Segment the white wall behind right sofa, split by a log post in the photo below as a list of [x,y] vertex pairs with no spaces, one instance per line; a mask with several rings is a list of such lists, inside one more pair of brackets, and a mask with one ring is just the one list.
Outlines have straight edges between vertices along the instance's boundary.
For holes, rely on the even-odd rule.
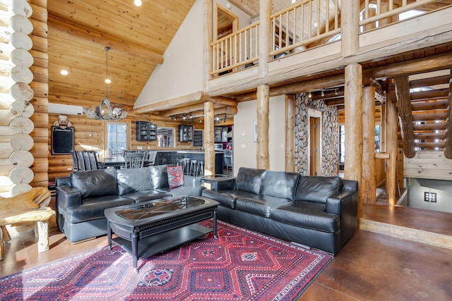
[[[256,100],[239,104],[234,116],[234,174],[239,167],[256,168],[254,120],[257,118]],[[271,171],[285,170],[285,96],[270,97],[270,127],[268,129],[268,156]]]

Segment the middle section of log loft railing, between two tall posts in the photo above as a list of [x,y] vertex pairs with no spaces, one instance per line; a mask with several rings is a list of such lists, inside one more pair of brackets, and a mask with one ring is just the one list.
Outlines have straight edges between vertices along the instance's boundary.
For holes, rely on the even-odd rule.
[[339,0],[304,0],[270,16],[270,56],[340,33]]

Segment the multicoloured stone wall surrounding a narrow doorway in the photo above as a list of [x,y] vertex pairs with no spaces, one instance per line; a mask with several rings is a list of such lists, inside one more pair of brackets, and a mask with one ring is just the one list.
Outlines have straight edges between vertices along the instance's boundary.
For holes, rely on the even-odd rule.
[[321,100],[301,94],[295,101],[295,172],[309,175],[309,116],[308,110],[321,111],[321,175],[338,176],[338,110]]

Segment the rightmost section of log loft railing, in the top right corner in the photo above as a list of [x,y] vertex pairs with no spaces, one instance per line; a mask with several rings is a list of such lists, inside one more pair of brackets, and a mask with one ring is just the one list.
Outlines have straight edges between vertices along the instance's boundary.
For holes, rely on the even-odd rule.
[[[400,13],[405,13],[406,11],[411,11],[413,9],[421,8],[424,6],[422,11],[432,11],[432,8],[427,7],[429,4],[434,4],[439,2],[438,0],[402,0],[402,1],[381,1],[377,0],[376,4],[371,0],[364,0],[364,11],[362,20],[359,21],[359,26],[369,25],[374,23],[370,28],[378,27],[376,21],[381,21],[386,18],[391,18],[398,16]],[[450,4],[436,4],[436,9],[441,9]],[[395,20],[397,21],[397,20]],[[380,24],[381,25],[381,24]],[[366,27],[364,27],[364,31]]]

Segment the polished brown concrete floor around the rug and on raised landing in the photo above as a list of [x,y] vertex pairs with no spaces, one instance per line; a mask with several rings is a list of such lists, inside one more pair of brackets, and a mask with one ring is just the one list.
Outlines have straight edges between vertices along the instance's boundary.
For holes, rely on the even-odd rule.
[[[450,234],[452,214],[438,216],[366,205],[363,219]],[[105,236],[72,245],[56,228],[49,240],[43,253],[32,233],[6,243],[0,276],[107,245]],[[359,229],[299,300],[452,300],[452,250]]]

